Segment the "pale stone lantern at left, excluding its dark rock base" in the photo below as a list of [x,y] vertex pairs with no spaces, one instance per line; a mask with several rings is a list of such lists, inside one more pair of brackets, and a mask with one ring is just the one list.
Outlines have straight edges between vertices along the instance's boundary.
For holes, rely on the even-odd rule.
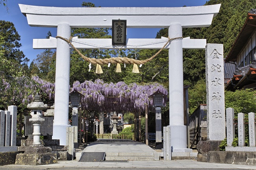
[[30,115],[32,116],[31,119],[29,119],[30,122],[33,124],[33,145],[38,145],[40,143],[40,125],[45,121],[44,118],[42,118],[43,115],[43,109],[47,108],[47,104],[44,104],[41,102],[40,96],[38,93],[35,95],[34,101],[28,104],[28,109],[32,110],[30,112]]

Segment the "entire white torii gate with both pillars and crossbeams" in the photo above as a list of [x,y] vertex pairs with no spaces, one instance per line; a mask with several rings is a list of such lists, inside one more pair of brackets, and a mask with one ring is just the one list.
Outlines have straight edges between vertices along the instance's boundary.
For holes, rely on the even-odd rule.
[[[28,24],[35,27],[57,27],[57,36],[69,38],[74,27],[112,26],[112,19],[127,20],[127,28],[169,28],[169,38],[182,37],[182,28],[208,27],[219,12],[221,4],[197,7],[43,7],[19,4]],[[72,38],[78,49],[160,49],[167,38],[127,40],[126,46],[112,46],[111,39]],[[90,44],[94,44],[91,46]],[[141,46],[141,44],[145,44]],[[148,45],[147,45],[148,44]],[[171,146],[173,152],[189,152],[187,127],[184,125],[183,58],[182,49],[205,49],[205,39],[176,39],[165,48],[169,49],[169,103]],[[66,127],[69,110],[70,46],[61,39],[34,39],[34,49],[56,48],[56,82],[53,139],[66,145]],[[170,69],[175,68],[175,69]]]

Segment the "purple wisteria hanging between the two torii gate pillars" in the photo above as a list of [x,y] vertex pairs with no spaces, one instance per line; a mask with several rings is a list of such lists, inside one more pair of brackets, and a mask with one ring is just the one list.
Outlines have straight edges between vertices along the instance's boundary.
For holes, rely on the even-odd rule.
[[[168,94],[167,89],[158,83],[127,85],[124,82],[104,83],[103,80],[97,79],[95,82],[86,80],[80,83],[76,81],[70,91],[77,90],[85,96],[81,100],[81,106],[86,110],[132,112],[139,108],[144,110],[145,104],[152,106],[153,101],[148,97],[158,89],[162,93]],[[166,101],[167,99],[164,99],[164,103]]]

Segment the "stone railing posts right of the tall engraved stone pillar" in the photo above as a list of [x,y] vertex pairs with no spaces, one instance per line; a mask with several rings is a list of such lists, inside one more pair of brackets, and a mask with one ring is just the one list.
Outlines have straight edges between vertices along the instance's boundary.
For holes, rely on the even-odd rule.
[[[234,121],[237,121],[235,123]],[[245,122],[246,121],[246,122]],[[235,138],[235,124],[238,131],[238,146],[233,147],[232,142]],[[249,128],[249,146],[245,146],[245,124]],[[226,109],[226,130],[227,130],[227,145],[226,151],[256,151],[256,129],[255,129],[255,113],[248,113],[248,121],[245,119],[244,113],[238,113],[237,119],[234,119],[234,109]]]

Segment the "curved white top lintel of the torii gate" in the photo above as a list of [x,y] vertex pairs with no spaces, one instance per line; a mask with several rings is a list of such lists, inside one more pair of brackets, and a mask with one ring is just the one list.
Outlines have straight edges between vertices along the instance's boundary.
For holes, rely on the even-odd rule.
[[[127,20],[127,27],[161,28],[171,23],[182,27],[208,27],[221,4],[195,7],[45,7],[19,4],[30,26],[111,27],[112,19]],[[90,22],[88,22],[90,20]]]

